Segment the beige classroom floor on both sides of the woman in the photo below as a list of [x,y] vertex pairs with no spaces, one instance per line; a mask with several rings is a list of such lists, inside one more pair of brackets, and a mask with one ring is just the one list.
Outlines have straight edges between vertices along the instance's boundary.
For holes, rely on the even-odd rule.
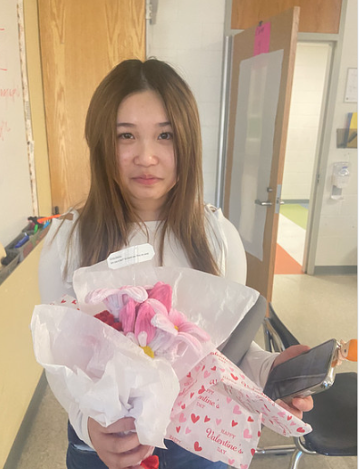
[[[278,316],[300,342],[317,345],[327,338],[350,339],[357,334],[356,276],[313,277],[277,275],[273,305]],[[261,330],[256,337],[263,346]],[[355,363],[340,371],[356,371]],[[14,469],[65,469],[67,416],[47,389],[34,425],[24,446],[20,463]],[[284,445],[292,441],[262,431],[260,445]],[[290,455],[256,456],[249,469],[288,469]],[[356,469],[356,457],[304,455],[298,469]],[[13,469],[13,468],[12,468]],[[92,468],[89,468],[92,469]]]

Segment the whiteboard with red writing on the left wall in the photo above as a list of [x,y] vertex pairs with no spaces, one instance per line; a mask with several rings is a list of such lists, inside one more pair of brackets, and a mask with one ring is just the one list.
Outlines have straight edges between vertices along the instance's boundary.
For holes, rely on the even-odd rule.
[[15,0],[0,1],[0,242],[5,246],[34,215],[17,7]]

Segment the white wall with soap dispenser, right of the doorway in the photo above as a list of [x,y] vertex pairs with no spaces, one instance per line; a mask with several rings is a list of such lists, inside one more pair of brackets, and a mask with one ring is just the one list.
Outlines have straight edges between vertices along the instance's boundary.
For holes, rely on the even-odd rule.
[[[347,69],[357,67],[357,0],[348,0],[346,29],[337,86],[337,103],[327,161],[322,210],[317,239],[316,266],[356,266],[357,264],[357,150],[337,149],[337,129],[345,128],[347,112],[356,112],[356,103],[345,103]],[[344,200],[331,200],[331,175],[337,161],[351,163],[351,181],[343,190]]]

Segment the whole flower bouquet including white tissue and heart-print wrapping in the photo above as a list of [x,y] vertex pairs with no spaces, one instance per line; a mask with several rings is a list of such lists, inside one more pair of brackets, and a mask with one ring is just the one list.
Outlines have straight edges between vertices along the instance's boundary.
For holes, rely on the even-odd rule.
[[143,445],[169,438],[242,469],[261,425],[311,430],[217,350],[259,298],[252,288],[194,269],[105,261],[78,269],[73,286],[76,298],[35,307],[31,325],[35,357],[68,412],[76,403],[105,426],[132,416]]

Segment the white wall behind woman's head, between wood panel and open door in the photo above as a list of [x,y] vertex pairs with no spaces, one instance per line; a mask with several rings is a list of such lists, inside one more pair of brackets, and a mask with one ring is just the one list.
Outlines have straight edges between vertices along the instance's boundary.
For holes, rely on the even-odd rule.
[[200,111],[204,200],[215,201],[225,0],[159,0],[149,26],[148,57],[171,64],[190,85]]

